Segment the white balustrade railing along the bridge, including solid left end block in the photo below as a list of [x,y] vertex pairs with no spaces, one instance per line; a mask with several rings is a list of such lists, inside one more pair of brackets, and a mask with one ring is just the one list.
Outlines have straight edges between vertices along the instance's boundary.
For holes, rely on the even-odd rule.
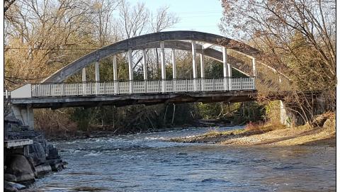
[[11,98],[254,90],[254,77],[26,84]]

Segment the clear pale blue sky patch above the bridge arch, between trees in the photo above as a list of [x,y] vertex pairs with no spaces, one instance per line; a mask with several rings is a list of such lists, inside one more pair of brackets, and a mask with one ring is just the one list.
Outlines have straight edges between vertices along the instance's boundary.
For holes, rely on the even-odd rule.
[[131,4],[144,2],[150,11],[156,12],[160,6],[169,6],[169,11],[180,18],[168,30],[198,30],[221,35],[218,28],[222,18],[220,0],[130,0]]

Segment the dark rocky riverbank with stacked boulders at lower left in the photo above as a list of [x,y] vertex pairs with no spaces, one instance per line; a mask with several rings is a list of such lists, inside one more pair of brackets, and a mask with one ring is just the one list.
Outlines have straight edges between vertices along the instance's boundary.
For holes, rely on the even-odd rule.
[[5,141],[29,139],[33,140],[33,144],[5,148],[4,191],[39,191],[26,190],[24,184],[67,166],[58,150],[47,142],[43,132],[28,130],[13,118],[6,118],[5,125]]

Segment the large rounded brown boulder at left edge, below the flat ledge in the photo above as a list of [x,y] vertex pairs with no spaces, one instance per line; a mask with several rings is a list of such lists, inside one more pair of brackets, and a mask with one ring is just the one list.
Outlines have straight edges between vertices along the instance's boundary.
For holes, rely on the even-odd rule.
[[22,154],[11,154],[6,157],[6,174],[13,174],[16,176],[16,181],[32,181],[35,174],[33,167],[28,162],[28,159]]

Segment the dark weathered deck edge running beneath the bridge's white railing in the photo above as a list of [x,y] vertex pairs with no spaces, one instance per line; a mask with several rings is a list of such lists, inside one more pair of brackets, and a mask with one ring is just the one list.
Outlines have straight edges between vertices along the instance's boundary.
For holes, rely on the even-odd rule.
[[241,102],[253,101],[257,92],[246,91],[208,91],[180,92],[164,94],[124,94],[124,95],[89,95],[89,96],[45,96],[32,98],[12,98],[16,106],[30,108],[66,108],[93,106],[128,106],[135,104],[152,105],[157,103],[191,103],[191,102]]

